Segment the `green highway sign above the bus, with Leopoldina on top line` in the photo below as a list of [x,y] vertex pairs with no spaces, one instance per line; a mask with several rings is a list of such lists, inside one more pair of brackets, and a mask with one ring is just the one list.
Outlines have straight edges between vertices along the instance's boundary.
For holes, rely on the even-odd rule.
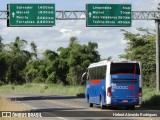
[[130,27],[131,4],[87,4],[87,27]]

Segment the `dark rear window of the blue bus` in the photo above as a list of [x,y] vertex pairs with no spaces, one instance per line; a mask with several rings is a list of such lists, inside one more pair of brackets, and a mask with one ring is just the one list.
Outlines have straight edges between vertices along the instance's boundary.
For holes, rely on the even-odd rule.
[[110,74],[139,74],[138,63],[111,63]]

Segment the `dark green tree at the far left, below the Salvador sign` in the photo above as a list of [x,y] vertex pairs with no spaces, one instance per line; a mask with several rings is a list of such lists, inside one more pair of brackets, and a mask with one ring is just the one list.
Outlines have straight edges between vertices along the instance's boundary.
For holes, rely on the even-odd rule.
[[[30,53],[24,50],[27,42],[19,37],[16,37],[14,42],[5,45],[2,55],[2,62],[5,65],[0,69],[4,71],[3,83],[25,83],[24,68],[27,61],[31,59]],[[3,66],[4,66],[3,65]]]

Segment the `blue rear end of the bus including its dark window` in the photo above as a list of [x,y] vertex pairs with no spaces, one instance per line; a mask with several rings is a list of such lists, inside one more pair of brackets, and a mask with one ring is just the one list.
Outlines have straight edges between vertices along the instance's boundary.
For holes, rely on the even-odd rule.
[[138,104],[140,68],[138,63],[111,63],[111,104]]

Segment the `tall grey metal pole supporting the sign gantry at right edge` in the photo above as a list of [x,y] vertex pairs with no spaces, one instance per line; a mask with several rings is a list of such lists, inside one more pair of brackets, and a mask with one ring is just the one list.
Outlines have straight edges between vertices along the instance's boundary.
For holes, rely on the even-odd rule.
[[156,88],[160,91],[160,20],[156,20],[156,31]]

